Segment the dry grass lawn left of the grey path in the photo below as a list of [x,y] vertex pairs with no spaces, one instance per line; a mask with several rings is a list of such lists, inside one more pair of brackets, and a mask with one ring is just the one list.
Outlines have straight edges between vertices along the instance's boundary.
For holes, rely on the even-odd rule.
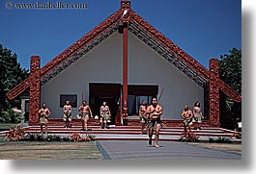
[[1,160],[102,160],[95,141],[7,141],[0,137]]

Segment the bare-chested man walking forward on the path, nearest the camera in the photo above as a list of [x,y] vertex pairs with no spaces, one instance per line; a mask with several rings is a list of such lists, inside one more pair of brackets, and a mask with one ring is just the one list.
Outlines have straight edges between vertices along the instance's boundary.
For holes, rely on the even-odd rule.
[[161,128],[161,119],[160,116],[162,115],[162,107],[158,104],[157,99],[152,99],[152,105],[147,108],[147,114],[149,114],[149,121],[148,121],[148,135],[150,137],[149,144],[152,145],[152,137],[154,133],[154,129],[156,129],[156,136],[155,136],[155,147],[158,148],[158,139],[159,139],[159,131]]

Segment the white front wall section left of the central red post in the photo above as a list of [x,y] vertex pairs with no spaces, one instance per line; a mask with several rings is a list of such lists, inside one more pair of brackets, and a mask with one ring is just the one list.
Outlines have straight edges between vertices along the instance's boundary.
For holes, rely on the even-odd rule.
[[[79,106],[82,93],[89,103],[89,83],[122,82],[122,40],[122,35],[113,34],[43,85],[41,101],[46,102],[51,117],[63,117],[60,94],[77,94]],[[77,110],[73,109],[73,117]]]

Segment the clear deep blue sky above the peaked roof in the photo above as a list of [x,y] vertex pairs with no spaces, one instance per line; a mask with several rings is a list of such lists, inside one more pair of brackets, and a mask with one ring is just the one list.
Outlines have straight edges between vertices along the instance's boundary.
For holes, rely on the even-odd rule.
[[[15,7],[47,2],[60,1],[0,0],[0,44],[16,53],[27,69],[31,56],[40,56],[43,66],[121,6],[120,0],[62,0],[86,8]],[[131,9],[208,69],[210,59],[234,47],[242,49],[241,0],[131,0]]]

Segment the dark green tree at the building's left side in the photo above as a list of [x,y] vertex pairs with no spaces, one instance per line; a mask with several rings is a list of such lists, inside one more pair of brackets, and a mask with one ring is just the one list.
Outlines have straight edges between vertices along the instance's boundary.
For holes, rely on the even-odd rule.
[[0,112],[20,107],[19,101],[10,102],[5,94],[28,76],[29,70],[20,66],[16,54],[12,54],[10,49],[3,48],[0,44]]

